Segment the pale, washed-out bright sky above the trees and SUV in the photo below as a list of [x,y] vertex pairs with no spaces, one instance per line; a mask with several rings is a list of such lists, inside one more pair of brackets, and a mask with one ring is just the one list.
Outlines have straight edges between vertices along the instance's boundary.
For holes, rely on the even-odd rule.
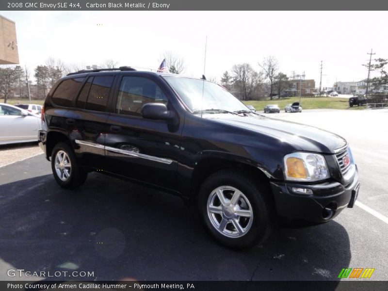
[[[319,87],[367,77],[368,52],[388,58],[388,12],[352,11],[0,11],[16,22],[19,62],[30,70],[49,57],[64,63],[158,68],[165,51],[201,77],[220,81],[234,64],[260,70],[274,56],[280,70],[305,72]],[[31,74],[33,75],[33,73]]]

